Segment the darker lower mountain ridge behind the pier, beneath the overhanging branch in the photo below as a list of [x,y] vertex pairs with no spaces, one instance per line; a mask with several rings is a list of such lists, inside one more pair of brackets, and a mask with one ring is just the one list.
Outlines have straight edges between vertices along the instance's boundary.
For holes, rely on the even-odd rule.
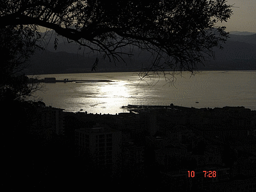
[[[31,56],[29,62],[31,66],[24,72],[25,74],[88,73],[92,72],[93,63],[95,63],[96,58],[96,55],[87,56],[85,54],[83,56],[63,51],[40,51]],[[107,58],[103,60],[99,56],[96,72],[138,71],[141,68],[140,62],[141,60],[133,61],[131,58],[127,58],[127,63],[114,63],[109,62]]]

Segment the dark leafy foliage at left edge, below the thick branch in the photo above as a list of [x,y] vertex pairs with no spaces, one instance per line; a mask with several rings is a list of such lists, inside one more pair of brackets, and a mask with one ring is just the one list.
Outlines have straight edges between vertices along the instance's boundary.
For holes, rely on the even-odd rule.
[[4,26],[0,34],[0,101],[10,104],[40,88],[37,83],[29,83],[28,77],[22,74],[28,67],[29,56],[40,48],[36,45],[40,35],[28,26]]

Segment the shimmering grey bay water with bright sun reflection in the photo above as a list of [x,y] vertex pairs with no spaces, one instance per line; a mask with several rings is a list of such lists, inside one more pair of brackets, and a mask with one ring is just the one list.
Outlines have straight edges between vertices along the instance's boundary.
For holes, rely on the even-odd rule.
[[111,80],[100,83],[44,83],[46,91],[36,92],[47,106],[64,111],[116,114],[127,112],[127,104],[223,108],[244,106],[256,110],[256,71],[201,71],[196,74],[163,74],[141,81],[136,72],[47,74],[58,80]]

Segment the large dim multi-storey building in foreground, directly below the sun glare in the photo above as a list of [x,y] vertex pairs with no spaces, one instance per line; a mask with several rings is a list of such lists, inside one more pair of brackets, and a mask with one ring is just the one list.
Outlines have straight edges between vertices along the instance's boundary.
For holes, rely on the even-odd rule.
[[88,166],[118,175],[121,166],[122,134],[107,125],[77,129],[76,144]]

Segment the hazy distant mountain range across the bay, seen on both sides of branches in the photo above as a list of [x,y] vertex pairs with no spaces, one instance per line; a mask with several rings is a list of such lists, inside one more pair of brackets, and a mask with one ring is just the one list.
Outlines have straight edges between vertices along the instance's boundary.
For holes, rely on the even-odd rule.
[[[256,70],[256,34],[229,36],[223,44],[223,50],[214,48],[215,60],[205,61],[205,66],[198,66],[198,70]],[[46,51],[36,52],[31,57],[31,67],[26,70],[26,74],[92,72],[97,57],[99,64],[96,72],[140,71],[142,66],[145,68],[152,63],[151,54],[147,51],[134,49],[134,56],[124,56],[127,63],[116,62],[115,65],[109,63],[108,58],[102,60],[100,54],[93,54],[87,47],[79,49],[79,45],[68,44],[62,38],[55,50],[53,41],[49,41]]]

